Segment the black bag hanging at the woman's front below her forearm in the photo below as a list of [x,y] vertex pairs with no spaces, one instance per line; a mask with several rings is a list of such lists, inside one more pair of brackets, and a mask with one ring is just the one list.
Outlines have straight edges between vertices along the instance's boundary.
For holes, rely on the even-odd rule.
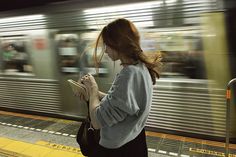
[[100,132],[92,127],[90,118],[84,120],[78,130],[76,141],[84,156],[89,156],[99,144]]

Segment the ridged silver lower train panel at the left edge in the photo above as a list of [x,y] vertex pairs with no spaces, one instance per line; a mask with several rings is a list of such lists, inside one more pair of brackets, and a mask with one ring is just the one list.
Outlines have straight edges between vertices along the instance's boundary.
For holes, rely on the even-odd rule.
[[62,114],[59,83],[46,79],[0,78],[1,107]]

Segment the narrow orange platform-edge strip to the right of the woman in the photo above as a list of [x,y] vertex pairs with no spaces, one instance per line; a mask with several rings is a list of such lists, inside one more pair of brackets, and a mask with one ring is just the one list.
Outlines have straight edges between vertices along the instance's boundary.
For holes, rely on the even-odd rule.
[[[205,145],[210,145],[210,146],[225,147],[225,143],[223,142],[215,142],[215,141],[202,140],[202,139],[183,137],[183,136],[177,136],[177,135],[170,135],[170,134],[164,134],[164,133],[146,131],[146,135],[153,136],[153,137],[160,137],[160,138],[168,138],[168,139],[173,139],[173,140],[178,140],[178,141],[205,144]],[[236,144],[230,144],[229,148],[236,149]]]

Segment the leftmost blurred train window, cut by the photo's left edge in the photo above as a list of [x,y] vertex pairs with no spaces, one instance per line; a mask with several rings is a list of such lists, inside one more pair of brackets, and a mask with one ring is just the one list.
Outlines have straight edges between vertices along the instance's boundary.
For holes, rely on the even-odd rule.
[[1,71],[3,74],[32,74],[24,37],[4,37],[1,40]]

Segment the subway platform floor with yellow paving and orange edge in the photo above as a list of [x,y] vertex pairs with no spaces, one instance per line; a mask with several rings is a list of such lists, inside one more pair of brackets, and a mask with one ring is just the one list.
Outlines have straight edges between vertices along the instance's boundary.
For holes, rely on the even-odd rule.
[[[80,122],[0,111],[0,157],[83,157]],[[224,143],[146,131],[149,157],[224,156]],[[236,145],[230,145],[236,157]]]

